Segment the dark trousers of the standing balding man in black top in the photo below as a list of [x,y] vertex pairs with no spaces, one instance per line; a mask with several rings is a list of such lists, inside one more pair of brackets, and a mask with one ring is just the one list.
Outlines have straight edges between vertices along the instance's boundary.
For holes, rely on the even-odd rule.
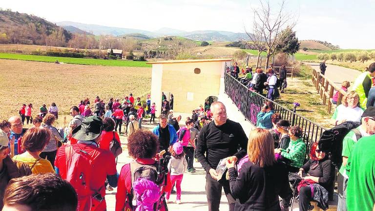
[[219,211],[221,191],[224,188],[225,195],[229,203],[229,211],[234,211],[234,204],[236,200],[230,194],[229,181],[219,183],[213,179],[209,173],[206,174],[206,194],[208,201],[208,211]]

